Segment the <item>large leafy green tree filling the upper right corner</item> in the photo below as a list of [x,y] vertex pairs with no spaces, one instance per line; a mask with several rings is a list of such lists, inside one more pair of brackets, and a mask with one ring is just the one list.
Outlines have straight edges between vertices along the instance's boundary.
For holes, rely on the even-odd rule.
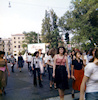
[[98,3],[97,0],[72,0],[72,10],[67,11],[59,20],[61,29],[70,30],[73,43],[85,44],[91,41],[98,45]]

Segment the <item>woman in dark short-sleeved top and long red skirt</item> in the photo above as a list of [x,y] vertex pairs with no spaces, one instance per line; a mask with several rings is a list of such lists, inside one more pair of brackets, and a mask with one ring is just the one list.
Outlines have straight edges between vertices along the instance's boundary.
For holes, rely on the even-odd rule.
[[73,79],[73,90],[72,90],[72,98],[74,98],[74,90],[80,91],[80,85],[82,82],[82,78],[84,75],[83,71],[83,61],[80,59],[80,52],[75,53],[75,60],[72,60],[71,66],[71,78]]

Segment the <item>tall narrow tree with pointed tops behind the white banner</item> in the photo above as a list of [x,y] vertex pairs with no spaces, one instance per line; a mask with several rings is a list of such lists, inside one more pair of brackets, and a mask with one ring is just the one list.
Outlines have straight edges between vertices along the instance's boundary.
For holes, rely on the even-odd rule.
[[58,17],[53,10],[45,12],[42,23],[42,42],[50,43],[50,48],[57,48],[59,43]]

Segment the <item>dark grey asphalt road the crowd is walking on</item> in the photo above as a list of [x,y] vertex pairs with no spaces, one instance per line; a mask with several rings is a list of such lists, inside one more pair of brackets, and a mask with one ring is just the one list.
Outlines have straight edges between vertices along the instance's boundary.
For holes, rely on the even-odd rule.
[[[9,64],[8,67],[11,70]],[[21,73],[15,65],[15,73],[11,73],[8,78],[7,94],[6,96],[0,96],[0,100],[45,100],[58,96],[57,90],[50,90],[49,88],[48,73],[43,77],[42,84],[43,88],[33,86],[33,77],[29,76],[26,63]],[[71,84],[72,80],[69,80],[70,89],[65,91],[65,95],[71,93]]]

